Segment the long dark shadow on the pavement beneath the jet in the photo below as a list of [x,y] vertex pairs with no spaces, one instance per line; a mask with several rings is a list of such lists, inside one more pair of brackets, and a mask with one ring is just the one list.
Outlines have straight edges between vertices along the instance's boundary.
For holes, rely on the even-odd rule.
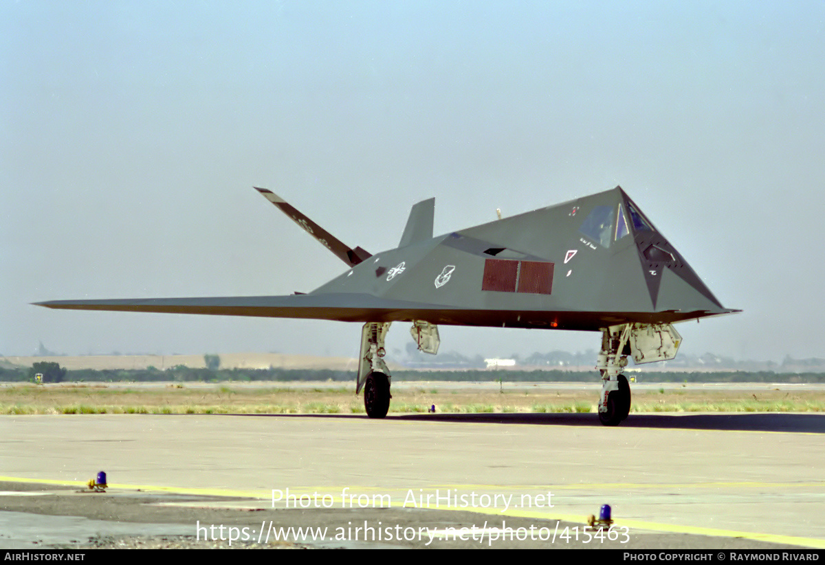
[[[252,418],[354,418],[364,414],[233,414]],[[545,426],[605,427],[593,413],[473,413],[390,414],[387,420],[414,422],[532,424]],[[682,430],[727,430],[738,432],[825,433],[825,414],[808,413],[632,413],[619,427]],[[609,427],[605,427],[610,429]]]

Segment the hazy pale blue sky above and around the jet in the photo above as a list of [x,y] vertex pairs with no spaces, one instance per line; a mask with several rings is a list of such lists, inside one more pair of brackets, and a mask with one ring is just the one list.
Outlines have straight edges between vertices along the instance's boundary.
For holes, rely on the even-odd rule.
[[[2,2],[0,353],[356,355],[358,325],[49,311],[288,294],[620,184],[724,306],[684,351],[825,357],[823,2]],[[390,354],[409,340],[391,330]],[[441,328],[442,348],[597,334]]]

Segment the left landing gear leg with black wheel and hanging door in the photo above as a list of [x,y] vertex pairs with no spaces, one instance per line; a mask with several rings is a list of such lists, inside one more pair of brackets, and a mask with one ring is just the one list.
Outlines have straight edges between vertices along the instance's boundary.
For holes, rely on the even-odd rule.
[[[367,322],[361,329],[361,355],[358,357],[356,395],[364,389],[364,408],[370,418],[384,418],[389,411],[389,368],[384,362],[384,338],[390,322]],[[435,355],[441,339],[438,327],[422,320],[413,321],[413,339],[424,353]]]

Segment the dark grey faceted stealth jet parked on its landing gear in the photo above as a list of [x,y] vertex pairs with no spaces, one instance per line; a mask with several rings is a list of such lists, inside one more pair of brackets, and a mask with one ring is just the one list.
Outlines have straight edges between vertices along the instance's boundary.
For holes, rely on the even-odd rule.
[[673,324],[724,308],[620,187],[432,236],[435,198],[410,212],[394,250],[352,249],[267,189],[257,189],[349,269],[307,294],[39,302],[74,310],[245,315],[360,322],[356,394],[370,418],[389,409],[384,337],[412,323],[418,348],[438,352],[438,325],[577,329],[601,333],[601,423],[627,418],[636,363],[672,359]]

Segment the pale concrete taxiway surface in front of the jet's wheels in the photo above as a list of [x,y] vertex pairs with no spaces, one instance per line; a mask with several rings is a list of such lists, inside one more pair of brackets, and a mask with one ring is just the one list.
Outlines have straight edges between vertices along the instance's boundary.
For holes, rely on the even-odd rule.
[[[0,493],[2,510],[175,521],[191,535],[197,523],[263,530],[275,516],[283,526],[328,525],[330,533],[347,523],[425,527],[436,531],[431,547],[825,548],[820,414],[631,414],[620,427],[602,427],[587,413],[378,421],[361,415],[2,416],[0,445],[3,490],[51,493]],[[110,483],[105,495],[61,488],[85,483],[101,469]],[[147,498],[158,492],[165,494]],[[134,505],[122,515],[106,514],[102,497]],[[602,504],[613,510],[620,534],[609,540],[614,543],[559,538],[565,528],[568,536],[575,527],[581,533],[586,516]],[[284,511],[285,505],[299,509]],[[233,510],[238,507],[260,512]],[[164,515],[168,508],[177,513]],[[470,531],[483,538],[485,522],[488,537],[478,543],[444,535],[450,526],[474,526]],[[552,532],[554,541],[492,543],[508,527],[526,532],[530,525],[544,538]],[[31,535],[21,528],[6,535],[16,540],[8,547]],[[381,541],[428,546],[427,537]]]

